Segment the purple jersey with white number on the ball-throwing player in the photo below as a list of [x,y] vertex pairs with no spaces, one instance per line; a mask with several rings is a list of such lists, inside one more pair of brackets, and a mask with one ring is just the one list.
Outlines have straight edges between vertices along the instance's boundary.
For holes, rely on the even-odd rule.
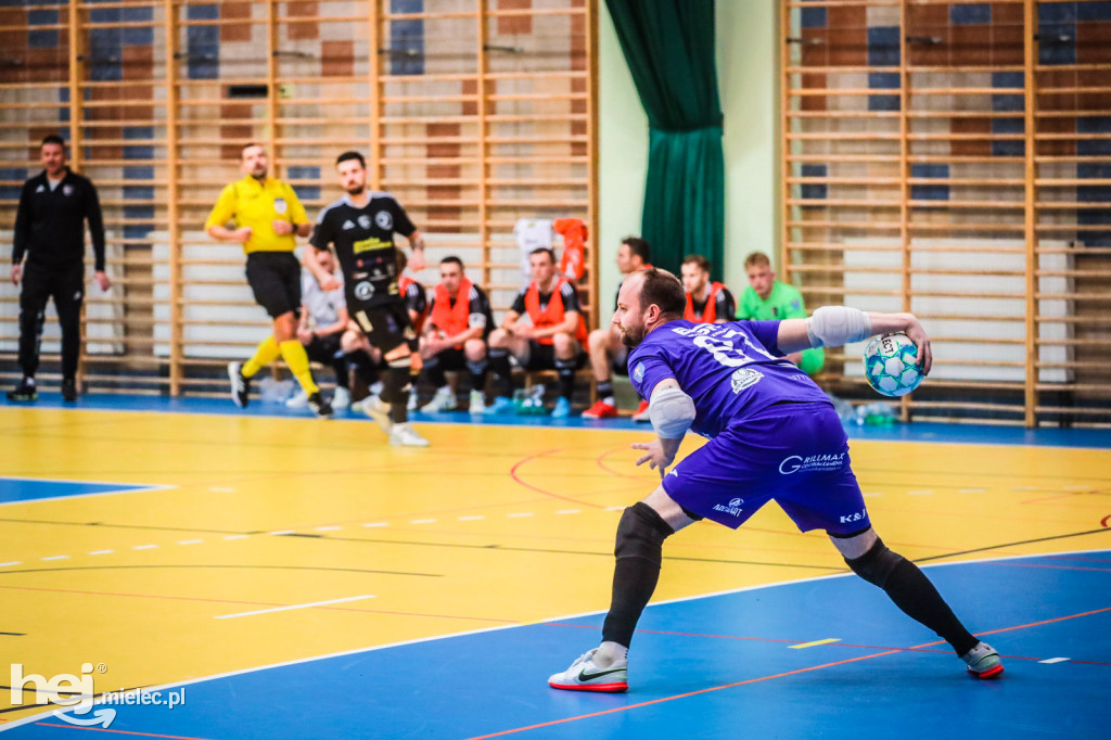
[[698,416],[691,431],[711,439],[773,403],[829,403],[807,373],[783,359],[779,324],[669,321],[629,356],[629,378],[642,398],[674,378],[694,399]]

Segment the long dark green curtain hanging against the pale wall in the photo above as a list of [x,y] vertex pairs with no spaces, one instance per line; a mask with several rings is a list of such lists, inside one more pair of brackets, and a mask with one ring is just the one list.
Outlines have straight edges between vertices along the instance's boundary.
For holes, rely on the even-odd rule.
[[652,263],[678,274],[704,254],[720,280],[725,164],[714,66],[714,0],[605,0],[648,113],[641,237]]

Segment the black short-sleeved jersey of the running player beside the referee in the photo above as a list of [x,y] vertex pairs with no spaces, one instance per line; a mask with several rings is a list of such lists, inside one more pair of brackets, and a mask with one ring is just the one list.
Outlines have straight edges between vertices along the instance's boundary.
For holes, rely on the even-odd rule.
[[362,208],[343,196],[320,212],[309,242],[317,249],[336,249],[343,271],[349,310],[401,302],[398,290],[394,232],[410,237],[417,227],[401,204],[387,192],[369,191]]

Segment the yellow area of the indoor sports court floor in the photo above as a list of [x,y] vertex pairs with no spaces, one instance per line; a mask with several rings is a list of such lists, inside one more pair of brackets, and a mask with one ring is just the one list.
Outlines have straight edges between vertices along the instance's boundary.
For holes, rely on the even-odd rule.
[[[607,607],[620,510],[658,480],[633,466],[644,431],[418,428],[430,448],[353,418],[0,408],[3,478],[144,487],[0,506],[3,654],[153,687]],[[910,559],[1111,542],[1105,448],[851,444],[877,531]],[[769,506],[668,540],[653,600],[844,570]],[[0,709],[2,728],[43,708],[0,691]]]

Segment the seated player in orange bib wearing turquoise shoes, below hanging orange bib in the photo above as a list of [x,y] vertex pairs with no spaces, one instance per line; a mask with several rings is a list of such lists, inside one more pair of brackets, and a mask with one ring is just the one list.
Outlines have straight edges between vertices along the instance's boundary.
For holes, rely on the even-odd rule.
[[[585,356],[587,322],[582,318],[579,291],[567,278],[556,274],[556,253],[546,247],[529,254],[532,281],[521,289],[499,329],[490,334],[490,370],[493,371],[497,398],[487,413],[513,408],[513,384],[509,370],[512,352],[524,370],[551,370],[559,373],[559,399],[552,417],[571,413],[574,371]],[[528,314],[530,323],[520,321]]]

